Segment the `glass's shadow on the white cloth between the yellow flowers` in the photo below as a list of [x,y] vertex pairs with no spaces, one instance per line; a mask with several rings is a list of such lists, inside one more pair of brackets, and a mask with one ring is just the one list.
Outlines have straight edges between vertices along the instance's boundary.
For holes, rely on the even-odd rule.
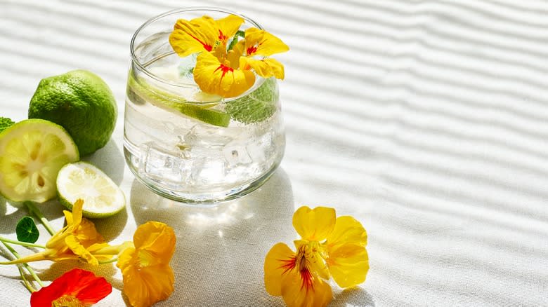
[[216,207],[181,205],[140,182],[131,189],[137,224],[157,220],[174,228],[171,259],[176,291],[159,306],[243,306],[271,302],[263,285],[263,261],[275,243],[291,242],[294,202],[289,177],[278,169],[261,188]]

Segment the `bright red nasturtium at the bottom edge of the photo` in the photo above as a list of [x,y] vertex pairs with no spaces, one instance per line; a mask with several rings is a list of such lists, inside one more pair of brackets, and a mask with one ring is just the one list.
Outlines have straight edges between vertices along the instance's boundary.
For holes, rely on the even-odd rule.
[[90,271],[74,268],[51,285],[33,292],[31,307],[86,307],[97,303],[112,292],[112,286],[103,277]]

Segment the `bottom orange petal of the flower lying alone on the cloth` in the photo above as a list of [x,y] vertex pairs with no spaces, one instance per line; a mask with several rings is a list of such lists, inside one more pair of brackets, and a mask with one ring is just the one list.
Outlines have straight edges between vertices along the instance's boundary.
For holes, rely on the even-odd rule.
[[282,278],[282,298],[288,307],[325,307],[332,297],[330,285],[317,276],[313,276],[311,287],[303,286],[297,272]]

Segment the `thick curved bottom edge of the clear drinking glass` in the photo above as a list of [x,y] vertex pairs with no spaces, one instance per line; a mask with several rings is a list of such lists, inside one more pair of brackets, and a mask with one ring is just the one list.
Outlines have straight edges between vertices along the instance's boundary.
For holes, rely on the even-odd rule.
[[260,186],[262,186],[268,180],[268,178],[273,175],[282,160],[280,158],[276,163],[274,163],[273,167],[270,168],[270,170],[265,172],[263,175],[261,175],[261,177],[253,179],[250,182],[231,187],[230,189],[214,192],[185,193],[182,191],[171,191],[168,189],[163,189],[162,186],[158,186],[157,183],[149,181],[147,178],[141,177],[138,169],[133,163],[134,161],[131,161],[131,152],[126,149],[125,146],[124,157],[126,158],[126,164],[129,166],[129,170],[131,170],[136,179],[138,179],[139,182],[148,187],[150,191],[157,193],[159,196],[190,205],[215,205],[216,203],[233,200],[235,198],[240,198],[248,193],[251,193],[252,191],[255,191]]

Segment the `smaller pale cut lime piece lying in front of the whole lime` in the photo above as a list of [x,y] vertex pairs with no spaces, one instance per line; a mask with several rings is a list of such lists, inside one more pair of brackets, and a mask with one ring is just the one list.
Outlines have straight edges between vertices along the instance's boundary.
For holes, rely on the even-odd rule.
[[126,206],[124,193],[115,182],[86,162],[69,163],[61,168],[57,191],[60,203],[70,210],[78,199],[84,200],[84,217],[110,217]]

